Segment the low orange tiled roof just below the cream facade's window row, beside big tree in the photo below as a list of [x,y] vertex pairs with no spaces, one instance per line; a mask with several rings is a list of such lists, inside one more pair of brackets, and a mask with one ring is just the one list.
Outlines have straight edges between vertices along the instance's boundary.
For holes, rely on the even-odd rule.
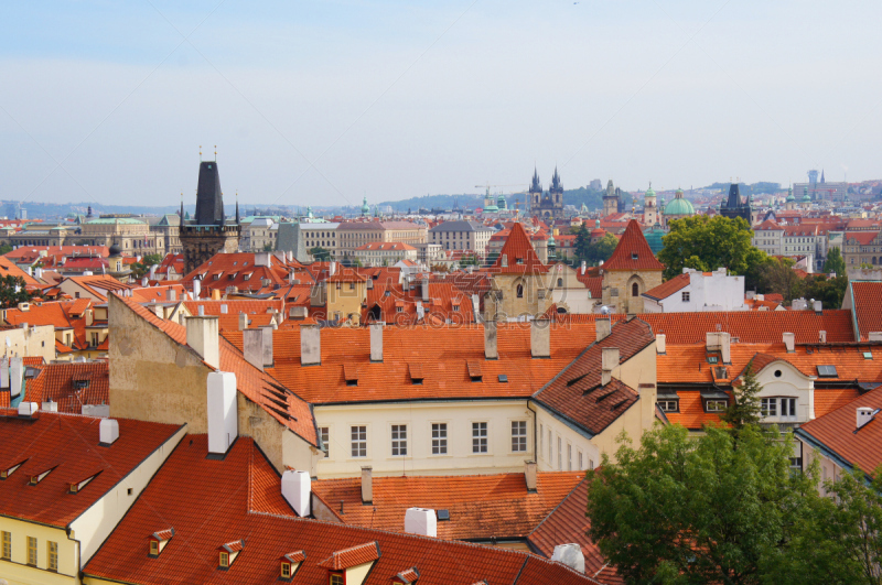
[[334,506],[342,501],[340,519],[346,524],[401,532],[406,510],[417,507],[450,510],[450,520],[438,522],[441,539],[524,538],[584,477],[583,472],[537,475],[534,494],[524,474],[375,477],[369,506],[362,505],[358,477],[313,481],[312,490]]

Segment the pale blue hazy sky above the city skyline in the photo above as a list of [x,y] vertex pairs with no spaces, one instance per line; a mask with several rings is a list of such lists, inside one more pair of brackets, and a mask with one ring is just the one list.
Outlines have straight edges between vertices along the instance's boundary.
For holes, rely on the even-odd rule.
[[361,205],[882,177],[882,2],[41,1],[0,18],[0,198]]

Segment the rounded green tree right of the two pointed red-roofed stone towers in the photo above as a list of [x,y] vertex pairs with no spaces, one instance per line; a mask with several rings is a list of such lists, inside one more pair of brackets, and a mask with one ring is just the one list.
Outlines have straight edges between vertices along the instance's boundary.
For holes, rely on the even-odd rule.
[[681,274],[684,268],[727,268],[731,274],[746,275],[766,258],[753,246],[753,231],[741,217],[697,215],[675,219],[668,227],[670,231],[662,238],[665,247],[658,252],[666,279]]

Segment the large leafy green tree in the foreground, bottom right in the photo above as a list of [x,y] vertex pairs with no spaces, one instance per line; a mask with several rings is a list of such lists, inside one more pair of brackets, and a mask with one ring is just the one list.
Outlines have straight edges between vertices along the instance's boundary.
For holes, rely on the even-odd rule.
[[793,438],[745,426],[692,437],[678,424],[623,442],[589,472],[589,537],[627,583],[760,584],[817,498],[789,468]]

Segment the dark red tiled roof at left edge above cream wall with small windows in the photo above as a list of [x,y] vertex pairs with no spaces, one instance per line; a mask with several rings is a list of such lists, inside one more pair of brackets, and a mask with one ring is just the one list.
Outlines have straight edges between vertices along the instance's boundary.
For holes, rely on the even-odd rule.
[[[3,411],[0,468],[24,464],[0,481],[0,514],[66,527],[180,429],[120,419],[119,438],[104,447],[98,446],[99,423],[92,416],[47,412],[18,419],[15,411]],[[51,468],[37,485],[29,485],[32,475]],[[90,476],[95,478],[78,494],[68,494],[72,483]]]

